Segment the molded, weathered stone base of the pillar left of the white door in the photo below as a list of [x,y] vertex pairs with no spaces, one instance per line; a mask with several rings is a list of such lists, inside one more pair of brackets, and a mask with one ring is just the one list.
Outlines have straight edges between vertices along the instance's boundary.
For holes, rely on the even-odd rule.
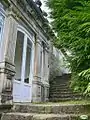
[[0,63],[0,102],[1,104],[12,104],[13,76],[15,67],[8,63]]

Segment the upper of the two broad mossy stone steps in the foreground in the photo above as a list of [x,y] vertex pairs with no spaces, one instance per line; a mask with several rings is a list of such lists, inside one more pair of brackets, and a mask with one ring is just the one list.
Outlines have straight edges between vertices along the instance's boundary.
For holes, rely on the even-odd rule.
[[20,113],[38,113],[38,114],[81,114],[90,111],[90,104],[31,104],[31,105],[15,105],[12,112]]

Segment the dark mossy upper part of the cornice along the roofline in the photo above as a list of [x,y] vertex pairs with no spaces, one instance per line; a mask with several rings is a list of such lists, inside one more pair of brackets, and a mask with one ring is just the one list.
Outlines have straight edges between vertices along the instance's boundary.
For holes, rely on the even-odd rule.
[[[23,11],[23,14],[25,13],[29,17],[29,20],[31,19],[31,21],[33,21],[34,24],[41,29],[43,34],[47,37],[47,40],[50,40],[51,38],[54,37],[54,33],[51,30],[47,19],[44,18],[43,13],[39,11],[39,8],[35,5],[35,3],[32,0],[14,0],[14,1],[10,0],[10,1],[17,8],[20,7],[21,11]],[[18,17],[19,14],[17,14]],[[32,23],[31,21],[30,23]]]

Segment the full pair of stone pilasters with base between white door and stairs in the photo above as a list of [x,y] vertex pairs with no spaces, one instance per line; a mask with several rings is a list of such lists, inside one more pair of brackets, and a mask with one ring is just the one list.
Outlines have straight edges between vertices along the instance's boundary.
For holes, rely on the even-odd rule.
[[33,102],[48,101],[48,52],[44,50],[42,41],[38,34],[35,44],[34,80],[32,85]]

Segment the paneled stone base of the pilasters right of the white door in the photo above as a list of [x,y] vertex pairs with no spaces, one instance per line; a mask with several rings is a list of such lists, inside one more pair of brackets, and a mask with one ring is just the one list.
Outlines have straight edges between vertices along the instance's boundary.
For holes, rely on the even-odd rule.
[[32,83],[32,102],[49,101],[49,84],[44,84],[40,80]]

